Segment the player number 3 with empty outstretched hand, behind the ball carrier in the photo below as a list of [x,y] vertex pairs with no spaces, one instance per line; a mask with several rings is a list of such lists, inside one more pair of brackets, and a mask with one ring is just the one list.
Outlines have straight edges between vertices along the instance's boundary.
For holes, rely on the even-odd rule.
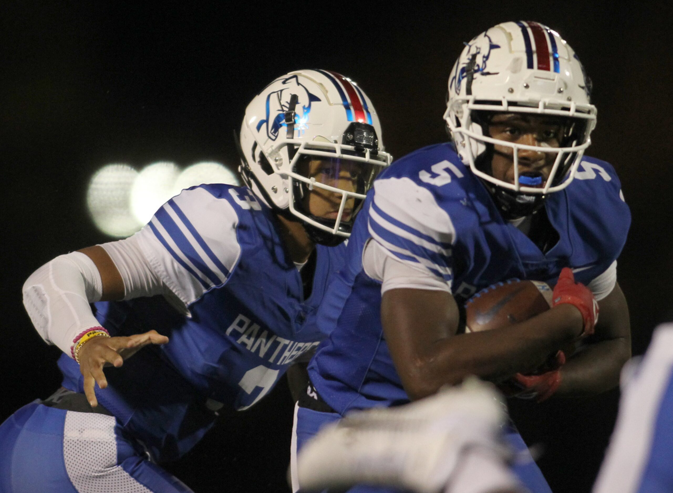
[[380,139],[355,83],[287,73],[246,109],[247,186],[183,190],[132,237],[36,270],[24,305],[65,353],[63,387],[0,427],[0,490],[190,491],[156,464],[184,455],[222,406],[258,402],[322,339],[328,277],[390,163]]

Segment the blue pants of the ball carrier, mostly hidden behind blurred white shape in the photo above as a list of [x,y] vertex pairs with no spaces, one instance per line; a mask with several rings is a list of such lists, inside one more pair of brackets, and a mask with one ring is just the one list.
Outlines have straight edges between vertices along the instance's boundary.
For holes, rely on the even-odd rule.
[[[297,451],[302,449],[302,445],[317,434],[322,426],[339,419],[341,419],[341,416],[336,413],[298,408],[292,437],[293,446],[295,445],[295,450],[292,451],[293,460],[295,460]],[[505,439],[518,457],[512,466],[512,471],[517,478],[531,493],[551,493],[551,488],[549,488],[544,476],[542,476],[542,471],[531,457],[519,432],[509,428],[505,431]],[[293,478],[293,487],[295,487],[295,482],[296,479]],[[348,493],[401,493],[404,491],[398,488],[354,486],[348,490]]]

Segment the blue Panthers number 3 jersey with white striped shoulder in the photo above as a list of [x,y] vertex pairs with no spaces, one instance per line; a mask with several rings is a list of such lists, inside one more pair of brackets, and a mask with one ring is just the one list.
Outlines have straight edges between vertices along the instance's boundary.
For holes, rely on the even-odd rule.
[[[137,233],[170,297],[96,303],[110,336],[155,329],[170,340],[107,369],[108,387],[96,389],[100,404],[156,460],[190,449],[217,408],[252,406],[322,340],[316,311],[330,272],[343,265],[345,245],[316,246],[313,285],[304,299],[277,224],[248,188],[183,190]],[[63,386],[82,391],[77,363],[63,355],[59,367]]]

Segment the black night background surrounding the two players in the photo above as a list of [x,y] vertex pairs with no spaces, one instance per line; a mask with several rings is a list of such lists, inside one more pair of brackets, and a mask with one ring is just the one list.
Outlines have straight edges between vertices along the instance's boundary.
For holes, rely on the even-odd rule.
[[[635,353],[673,308],[663,294],[673,272],[673,10],[663,2],[16,4],[0,13],[1,159],[9,176],[0,287],[0,375],[8,388],[0,420],[59,383],[58,351],[30,326],[20,288],[50,258],[108,240],[84,208],[98,167],[162,159],[234,164],[232,130],[250,98],[302,68],[357,81],[378,109],[393,155],[444,141],[446,80],[462,42],[507,20],[557,30],[594,82],[598,126],[588,155],[616,166],[633,213],[619,278]],[[544,445],[541,464],[555,491],[588,491],[617,398],[614,391],[581,403],[515,406],[524,437]],[[171,470],[197,492],[282,491],[289,412],[281,386],[258,410],[227,415]]]

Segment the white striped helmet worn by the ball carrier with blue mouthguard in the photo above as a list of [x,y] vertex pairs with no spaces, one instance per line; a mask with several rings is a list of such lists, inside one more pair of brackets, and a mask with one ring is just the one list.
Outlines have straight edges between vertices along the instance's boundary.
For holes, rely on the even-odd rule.
[[[546,194],[571,183],[591,143],[596,107],[590,104],[590,79],[557,32],[536,22],[498,24],[466,43],[448,86],[444,119],[456,151],[487,182],[505,216],[528,215],[542,206]],[[559,147],[493,139],[489,121],[497,113],[561,122]],[[513,183],[493,177],[494,145],[511,148]],[[551,153],[554,163],[546,180],[520,174],[520,151]]]

